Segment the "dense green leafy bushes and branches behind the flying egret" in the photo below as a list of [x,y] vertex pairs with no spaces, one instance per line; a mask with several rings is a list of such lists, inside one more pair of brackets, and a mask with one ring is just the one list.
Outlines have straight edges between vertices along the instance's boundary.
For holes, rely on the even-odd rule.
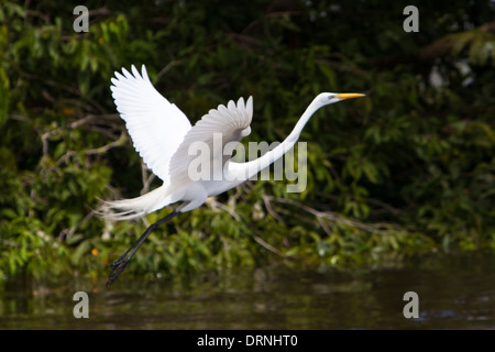
[[[320,91],[367,97],[306,127],[305,191],[232,189],[161,228],[127,275],[494,250],[494,4],[413,2],[87,1],[89,32],[76,33],[76,3],[3,1],[0,282],[105,276],[170,211],[118,223],[92,212],[160,185],[109,89],[132,64],[193,122],[252,95],[244,143],[285,139]],[[419,32],[403,30],[408,4]]]

